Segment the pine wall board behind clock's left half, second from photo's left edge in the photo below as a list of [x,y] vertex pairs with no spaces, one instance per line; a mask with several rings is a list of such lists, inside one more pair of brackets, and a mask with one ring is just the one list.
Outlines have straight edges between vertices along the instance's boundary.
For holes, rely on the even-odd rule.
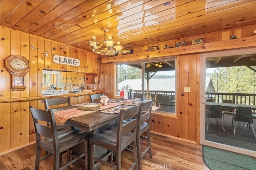
[[[11,55],[20,55],[20,32],[11,31]],[[20,91],[10,92],[11,98],[20,98]]]

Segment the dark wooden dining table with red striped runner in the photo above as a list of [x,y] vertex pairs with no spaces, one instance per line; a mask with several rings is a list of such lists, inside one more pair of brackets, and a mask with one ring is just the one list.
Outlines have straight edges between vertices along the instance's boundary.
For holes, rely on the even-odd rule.
[[[112,99],[114,101],[116,99]],[[121,100],[117,100],[121,101]],[[107,109],[111,109],[113,107],[116,108],[130,108],[132,105],[136,103],[146,103],[150,100],[142,100],[142,99],[133,99],[133,100],[122,100],[121,103],[117,103],[116,105],[114,103],[110,103],[110,105],[102,105],[99,109],[95,111],[82,111],[77,109],[79,105],[70,105],[70,106],[64,106],[64,107],[58,107],[52,109],[54,111],[54,117],[56,119],[56,122],[58,123],[65,123],[66,125],[70,125],[75,128],[80,128],[82,130],[90,132],[90,134],[96,134],[97,132],[104,130],[112,125],[115,125],[118,123],[119,113],[116,114],[109,114],[109,113],[103,113]],[[100,101],[94,101],[90,103],[99,103]],[[130,105],[131,104],[131,105]],[[62,119],[63,115],[71,115],[70,118],[65,117],[65,119]],[[78,114],[78,115],[77,115]],[[80,114],[80,115],[79,115]],[[73,116],[72,116],[73,115]],[[81,152],[81,148],[83,145],[76,146],[78,149],[75,149],[75,154]],[[104,157],[104,159],[108,159],[111,152],[108,152],[108,150],[104,148],[95,148],[97,150],[96,155],[99,157]],[[95,155],[95,156],[96,156]],[[96,163],[94,167],[96,169],[98,168],[99,163]]]

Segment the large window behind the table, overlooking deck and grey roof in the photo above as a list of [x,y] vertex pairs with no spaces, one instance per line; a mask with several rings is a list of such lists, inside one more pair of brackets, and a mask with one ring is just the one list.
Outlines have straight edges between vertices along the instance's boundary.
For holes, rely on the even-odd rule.
[[173,115],[176,98],[175,65],[176,57],[118,64],[116,94],[119,95],[123,87],[128,87],[128,98],[143,94],[144,99],[154,99],[155,113]]

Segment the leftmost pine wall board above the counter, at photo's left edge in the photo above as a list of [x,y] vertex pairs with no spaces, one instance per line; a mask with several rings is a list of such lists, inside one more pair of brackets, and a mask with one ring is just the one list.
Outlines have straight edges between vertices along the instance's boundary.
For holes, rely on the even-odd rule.
[[0,99],[9,99],[11,75],[4,67],[3,61],[11,55],[11,31],[0,27],[0,36]]

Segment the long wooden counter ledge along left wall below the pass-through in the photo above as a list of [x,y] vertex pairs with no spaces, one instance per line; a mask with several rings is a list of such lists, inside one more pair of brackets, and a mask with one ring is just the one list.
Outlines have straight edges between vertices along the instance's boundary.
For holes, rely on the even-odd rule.
[[[1,99],[0,103],[11,103],[11,102],[21,102],[21,101],[33,101],[33,100],[41,100],[41,99],[52,99],[56,97],[79,97],[84,95],[92,95],[96,94],[96,91],[85,92],[85,93],[60,93],[60,95],[43,95],[37,97],[24,97],[24,98],[16,98],[16,99]],[[50,93],[48,93],[50,94]]]

